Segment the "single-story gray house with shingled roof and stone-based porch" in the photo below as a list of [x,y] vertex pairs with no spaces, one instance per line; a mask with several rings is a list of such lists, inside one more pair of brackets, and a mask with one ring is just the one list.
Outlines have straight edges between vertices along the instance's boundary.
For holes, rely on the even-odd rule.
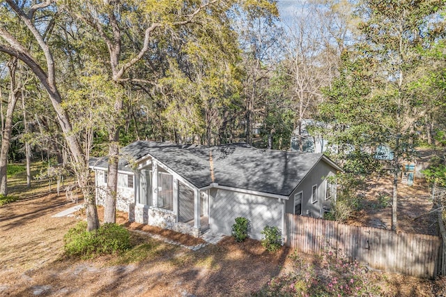
[[[92,159],[103,204],[107,159]],[[266,225],[284,229],[285,213],[320,218],[336,199],[325,177],[341,170],[321,153],[134,142],[121,149],[116,207],[129,220],[199,236],[231,234],[237,217],[261,239]]]

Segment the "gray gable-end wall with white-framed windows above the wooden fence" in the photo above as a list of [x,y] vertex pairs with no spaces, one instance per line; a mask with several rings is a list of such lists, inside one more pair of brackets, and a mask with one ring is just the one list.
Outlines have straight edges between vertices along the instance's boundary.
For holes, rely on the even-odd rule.
[[[293,213],[294,195],[302,191],[302,215],[321,218],[323,215],[323,206],[330,207],[332,201],[334,201],[334,197],[325,200],[325,179],[322,179],[322,177],[333,176],[334,174],[336,174],[336,169],[328,165],[326,162],[318,162],[309,174],[305,176],[298,188],[293,191],[289,200],[286,201],[286,213]],[[318,186],[316,203],[312,203],[313,185]]]

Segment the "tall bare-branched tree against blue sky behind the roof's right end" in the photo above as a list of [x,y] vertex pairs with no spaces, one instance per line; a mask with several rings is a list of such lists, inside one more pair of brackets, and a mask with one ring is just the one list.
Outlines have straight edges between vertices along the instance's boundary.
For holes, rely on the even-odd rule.
[[288,38],[282,41],[285,75],[289,76],[286,94],[288,108],[295,112],[293,129],[303,151],[302,121],[314,118],[323,96],[338,74],[339,56],[347,38],[355,38],[353,6],[348,1],[300,1],[291,21],[286,23]]

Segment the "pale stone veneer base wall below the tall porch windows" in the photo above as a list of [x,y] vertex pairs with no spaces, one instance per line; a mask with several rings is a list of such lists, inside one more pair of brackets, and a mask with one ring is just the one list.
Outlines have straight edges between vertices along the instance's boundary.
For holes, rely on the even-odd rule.
[[183,222],[176,222],[176,215],[169,211],[163,211],[159,208],[151,208],[141,204],[131,204],[128,208],[129,220],[140,224],[148,224],[163,229],[170,229],[183,234],[190,234],[198,237],[200,230],[194,228],[193,225]]

